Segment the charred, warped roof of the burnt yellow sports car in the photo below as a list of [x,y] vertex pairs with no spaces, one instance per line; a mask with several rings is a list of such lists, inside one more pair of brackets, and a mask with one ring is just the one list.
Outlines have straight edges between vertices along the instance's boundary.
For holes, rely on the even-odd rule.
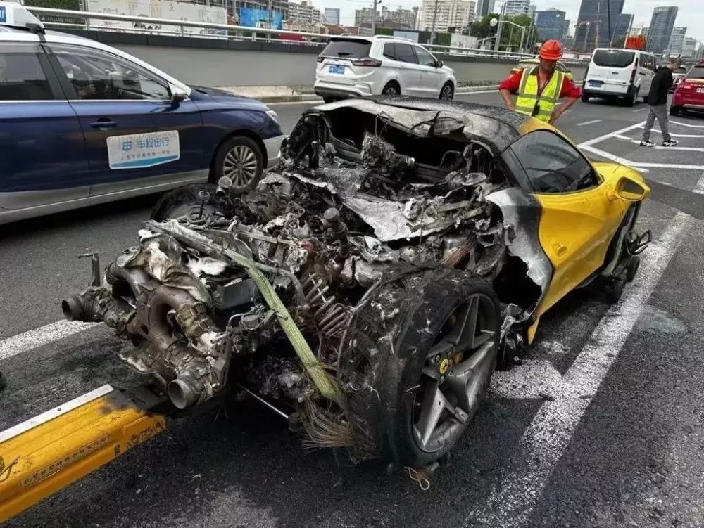
[[[377,96],[355,98],[318,105],[306,113],[319,113],[339,108],[355,108],[365,112],[377,112],[389,115],[393,120],[402,120],[407,124],[425,115],[425,112],[441,112],[451,116],[463,125],[463,134],[472,139],[481,139],[492,147],[496,153],[511,146],[521,136],[535,129],[552,129],[532,117],[513,112],[506,108],[466,103],[464,101],[440,101],[409,96]],[[404,112],[408,110],[409,112]],[[404,115],[406,113],[406,115]],[[420,124],[419,121],[418,124]],[[439,134],[436,134],[439,135]]]

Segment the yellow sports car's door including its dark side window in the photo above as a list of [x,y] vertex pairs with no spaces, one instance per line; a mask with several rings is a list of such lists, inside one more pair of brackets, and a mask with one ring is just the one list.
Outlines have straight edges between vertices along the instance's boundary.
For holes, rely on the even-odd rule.
[[510,148],[542,207],[539,238],[553,264],[541,315],[604,264],[629,203],[611,200],[612,182],[552,131],[530,132]]

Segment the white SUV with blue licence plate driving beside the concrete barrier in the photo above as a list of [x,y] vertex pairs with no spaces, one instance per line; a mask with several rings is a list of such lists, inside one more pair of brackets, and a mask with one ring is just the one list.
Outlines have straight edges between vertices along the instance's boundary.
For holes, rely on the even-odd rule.
[[451,100],[451,67],[419,44],[398,37],[332,37],[318,56],[315,94],[339,98],[398,95]]

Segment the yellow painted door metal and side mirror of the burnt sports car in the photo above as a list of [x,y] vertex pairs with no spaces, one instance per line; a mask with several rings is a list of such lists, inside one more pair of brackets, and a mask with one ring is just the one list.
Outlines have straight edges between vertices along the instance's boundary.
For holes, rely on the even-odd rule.
[[638,181],[646,189],[643,199],[650,194],[643,176],[630,167],[611,162],[591,165],[601,178],[598,186],[574,193],[534,195],[542,207],[540,243],[554,269],[550,286],[536,311],[538,317],[603,266],[612,239],[631,205],[617,198],[617,181],[622,177]]

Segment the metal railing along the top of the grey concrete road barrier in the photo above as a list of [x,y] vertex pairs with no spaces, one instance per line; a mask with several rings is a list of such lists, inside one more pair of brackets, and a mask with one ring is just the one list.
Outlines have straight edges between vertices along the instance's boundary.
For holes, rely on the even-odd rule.
[[[44,20],[44,25],[49,28],[66,28],[75,30],[95,30],[109,32],[129,32],[142,34],[177,35],[182,37],[199,37],[211,39],[227,39],[236,41],[265,41],[285,42],[286,44],[306,44],[308,46],[325,46],[331,37],[337,35],[298,32],[293,30],[274,30],[265,27],[245,27],[230,24],[214,24],[211,22],[194,22],[191,20],[175,20],[172,18],[148,18],[144,16],[116,15],[113,13],[94,13],[90,11],[73,11],[68,9],[42,8],[26,6],[36,15],[51,15],[69,18],[80,18],[82,23],[56,22]],[[131,22],[132,27],[116,27],[114,25],[101,25],[99,21],[110,20],[114,22]],[[300,39],[306,39],[301,41]],[[531,53],[518,53],[517,51],[495,51],[491,49],[466,48],[462,46],[441,46],[439,44],[422,44],[425,48],[436,53],[449,53],[458,56],[484,56],[496,58],[510,58],[520,60],[534,57]],[[583,61],[572,61],[575,63]]]

